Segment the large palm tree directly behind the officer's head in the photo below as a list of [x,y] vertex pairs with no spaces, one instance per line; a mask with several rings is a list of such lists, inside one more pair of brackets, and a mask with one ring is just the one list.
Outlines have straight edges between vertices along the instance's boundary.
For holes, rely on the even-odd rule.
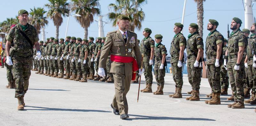
[[127,15],[130,18],[129,30],[134,31],[135,28],[140,30],[141,22],[145,18],[145,13],[142,11],[141,5],[147,4],[146,0],[116,0],[116,4],[109,4],[109,9],[114,12],[108,13],[108,18],[113,21],[113,26],[116,26],[116,18],[118,15]]

